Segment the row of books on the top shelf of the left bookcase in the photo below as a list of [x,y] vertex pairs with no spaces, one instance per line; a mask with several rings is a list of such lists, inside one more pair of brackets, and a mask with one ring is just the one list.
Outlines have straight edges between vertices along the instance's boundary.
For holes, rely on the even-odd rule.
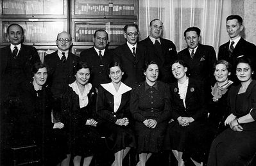
[[63,0],[6,0],[3,15],[63,15]]

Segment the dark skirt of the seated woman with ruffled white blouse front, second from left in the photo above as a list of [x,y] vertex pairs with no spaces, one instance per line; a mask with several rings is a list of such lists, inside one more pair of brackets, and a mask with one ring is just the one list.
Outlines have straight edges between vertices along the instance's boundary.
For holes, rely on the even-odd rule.
[[94,126],[85,125],[73,130],[71,153],[74,156],[93,156],[101,147],[101,136]]

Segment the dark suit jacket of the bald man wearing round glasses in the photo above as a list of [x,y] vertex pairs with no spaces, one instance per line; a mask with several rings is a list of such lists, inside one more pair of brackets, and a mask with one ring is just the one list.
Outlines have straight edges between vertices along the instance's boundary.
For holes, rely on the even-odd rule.
[[44,63],[48,67],[47,84],[51,87],[51,92],[54,97],[60,97],[67,86],[74,82],[76,74],[76,63],[78,63],[78,56],[71,52],[67,60],[63,64],[58,57],[58,50],[45,57]]

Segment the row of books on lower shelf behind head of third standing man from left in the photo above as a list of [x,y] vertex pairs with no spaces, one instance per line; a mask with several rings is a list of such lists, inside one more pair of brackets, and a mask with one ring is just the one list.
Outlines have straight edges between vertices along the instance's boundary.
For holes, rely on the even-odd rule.
[[[87,29],[86,27],[80,27],[76,31],[75,41],[76,42],[92,42],[92,38],[94,37],[95,31],[98,29],[102,29],[100,27],[93,27]],[[110,27],[110,29],[106,29],[108,33],[108,42],[113,43],[123,43],[125,41],[123,35],[123,27]]]

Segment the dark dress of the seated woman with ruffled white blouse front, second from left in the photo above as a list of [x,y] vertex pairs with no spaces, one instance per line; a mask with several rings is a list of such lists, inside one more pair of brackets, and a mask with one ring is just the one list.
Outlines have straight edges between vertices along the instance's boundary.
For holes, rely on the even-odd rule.
[[88,105],[80,108],[78,94],[69,87],[64,94],[64,102],[69,112],[69,144],[74,156],[93,156],[99,151],[101,136],[95,126],[85,125],[87,119],[96,119],[96,89],[87,94]]

